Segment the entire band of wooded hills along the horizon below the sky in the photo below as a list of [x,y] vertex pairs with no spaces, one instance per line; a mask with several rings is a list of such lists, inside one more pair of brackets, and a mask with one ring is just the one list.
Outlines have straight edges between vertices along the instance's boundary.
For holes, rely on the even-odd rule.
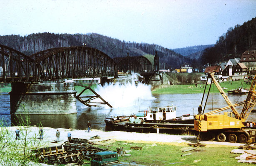
[[20,35],[5,35],[0,36],[0,44],[27,55],[50,48],[82,46],[83,43],[88,47],[104,52],[111,58],[125,57],[127,53],[129,53],[129,56],[155,55],[155,51],[158,51],[160,68],[175,69],[184,63],[190,64],[194,68],[201,68],[206,64],[213,66],[221,61],[241,57],[244,51],[256,49],[255,20],[256,17],[244,22],[243,25],[229,28],[226,33],[218,38],[214,46],[191,46],[174,50],[157,44],[120,41],[119,39],[96,33],[54,34],[45,32],[29,34],[24,37]]

